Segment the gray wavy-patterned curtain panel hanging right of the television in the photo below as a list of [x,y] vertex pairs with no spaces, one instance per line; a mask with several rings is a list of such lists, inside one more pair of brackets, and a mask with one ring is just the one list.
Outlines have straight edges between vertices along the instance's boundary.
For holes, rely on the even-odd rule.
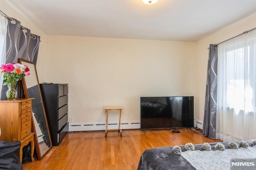
[[203,125],[203,134],[210,139],[216,138],[217,65],[217,45],[210,44]]

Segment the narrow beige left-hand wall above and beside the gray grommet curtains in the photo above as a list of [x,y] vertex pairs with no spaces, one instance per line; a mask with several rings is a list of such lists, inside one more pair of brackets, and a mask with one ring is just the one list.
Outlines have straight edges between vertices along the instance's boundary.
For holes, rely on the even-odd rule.
[[1,0],[0,3],[0,10],[9,17],[15,18],[16,20],[20,21],[22,26],[27,27],[31,30],[31,33],[34,33],[41,37],[36,68],[39,81],[44,82],[46,79],[46,34],[38,29],[38,27],[36,27],[28,18],[22,16],[22,14],[20,14],[17,9],[12,8],[8,3],[3,0]]

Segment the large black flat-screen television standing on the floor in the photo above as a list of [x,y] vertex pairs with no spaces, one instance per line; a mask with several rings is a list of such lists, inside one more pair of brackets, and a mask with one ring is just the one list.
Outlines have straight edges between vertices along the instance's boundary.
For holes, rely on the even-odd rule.
[[140,97],[140,129],[194,127],[194,96]]

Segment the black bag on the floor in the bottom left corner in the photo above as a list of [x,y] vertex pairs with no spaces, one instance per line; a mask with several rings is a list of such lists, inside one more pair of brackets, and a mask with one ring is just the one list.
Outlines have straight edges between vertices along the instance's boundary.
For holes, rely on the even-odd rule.
[[23,170],[20,162],[20,141],[0,141],[0,170]]

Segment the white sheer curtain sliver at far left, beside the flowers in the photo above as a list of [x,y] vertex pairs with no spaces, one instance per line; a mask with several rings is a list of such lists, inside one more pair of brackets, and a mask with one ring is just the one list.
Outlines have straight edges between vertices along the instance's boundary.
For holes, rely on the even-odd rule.
[[[0,14],[0,66],[5,64],[6,60],[6,32],[7,32],[7,19]],[[0,74],[0,98],[3,84],[3,74]]]

